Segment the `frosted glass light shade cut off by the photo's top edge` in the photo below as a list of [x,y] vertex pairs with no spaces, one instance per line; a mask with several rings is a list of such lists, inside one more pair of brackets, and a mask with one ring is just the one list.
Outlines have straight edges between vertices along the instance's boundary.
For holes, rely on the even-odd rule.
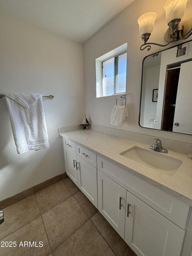
[[182,19],[188,0],[168,0],[164,9],[166,11],[167,24],[176,18]]

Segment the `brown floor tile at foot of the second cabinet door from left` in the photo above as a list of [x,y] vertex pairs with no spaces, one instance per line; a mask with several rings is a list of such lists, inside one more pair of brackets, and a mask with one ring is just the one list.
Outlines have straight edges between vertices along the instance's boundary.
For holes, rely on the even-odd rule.
[[77,192],[73,195],[83,210],[86,212],[89,218],[91,218],[98,209],[88,200],[88,198],[81,192]]

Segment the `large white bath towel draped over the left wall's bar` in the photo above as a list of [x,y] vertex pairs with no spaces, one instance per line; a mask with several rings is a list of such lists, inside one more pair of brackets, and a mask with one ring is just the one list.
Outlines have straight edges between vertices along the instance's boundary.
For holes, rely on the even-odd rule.
[[49,147],[42,94],[5,93],[17,153]]

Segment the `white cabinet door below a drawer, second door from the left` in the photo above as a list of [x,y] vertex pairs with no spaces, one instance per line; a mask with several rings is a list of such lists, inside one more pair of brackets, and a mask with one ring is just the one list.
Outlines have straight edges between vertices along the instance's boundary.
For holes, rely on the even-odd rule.
[[77,156],[79,189],[98,208],[97,169]]

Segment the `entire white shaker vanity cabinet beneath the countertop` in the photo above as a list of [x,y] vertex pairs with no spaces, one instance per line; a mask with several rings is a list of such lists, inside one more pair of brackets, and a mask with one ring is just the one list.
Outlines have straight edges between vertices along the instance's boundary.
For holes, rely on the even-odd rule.
[[63,143],[67,175],[138,256],[190,255],[190,205],[112,159],[64,138]]

